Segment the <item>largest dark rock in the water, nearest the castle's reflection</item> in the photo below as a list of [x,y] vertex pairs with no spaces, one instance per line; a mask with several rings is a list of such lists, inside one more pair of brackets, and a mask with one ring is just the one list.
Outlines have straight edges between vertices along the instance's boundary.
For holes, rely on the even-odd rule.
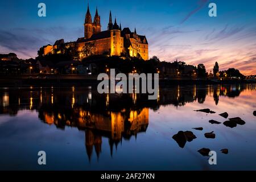
[[193,139],[196,138],[196,136],[191,131],[179,131],[172,138],[181,148],[184,148],[186,142],[191,142]]

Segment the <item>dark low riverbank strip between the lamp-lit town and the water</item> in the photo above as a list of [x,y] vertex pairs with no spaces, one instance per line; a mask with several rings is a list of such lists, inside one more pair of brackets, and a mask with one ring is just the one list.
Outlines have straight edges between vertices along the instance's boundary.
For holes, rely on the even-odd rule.
[[[7,85],[27,85],[27,84],[97,84],[97,75],[16,75],[16,76],[1,76],[0,84]],[[159,78],[160,85],[172,84],[256,84],[256,80],[238,80],[225,79],[216,80],[213,78]]]

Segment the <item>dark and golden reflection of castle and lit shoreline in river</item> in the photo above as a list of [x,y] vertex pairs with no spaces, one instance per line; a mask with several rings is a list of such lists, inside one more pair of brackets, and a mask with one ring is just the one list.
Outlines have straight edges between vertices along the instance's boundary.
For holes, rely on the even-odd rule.
[[0,90],[0,114],[15,115],[18,110],[37,110],[39,118],[59,129],[66,126],[85,131],[88,157],[101,152],[102,137],[113,147],[144,132],[148,126],[148,110],[161,105],[182,106],[186,102],[204,103],[208,95],[218,104],[220,96],[237,97],[250,85],[192,85],[160,88],[158,100],[148,100],[145,94],[98,94],[94,87],[41,88]]

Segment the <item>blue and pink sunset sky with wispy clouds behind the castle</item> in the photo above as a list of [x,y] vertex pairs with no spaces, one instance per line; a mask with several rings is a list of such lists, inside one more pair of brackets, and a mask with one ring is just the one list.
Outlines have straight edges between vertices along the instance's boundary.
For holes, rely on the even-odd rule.
[[[38,16],[44,2],[47,16]],[[57,39],[75,41],[84,35],[84,18],[89,2],[94,17],[96,6],[102,30],[113,18],[137,33],[146,35],[149,56],[160,60],[183,60],[205,64],[207,71],[218,61],[220,69],[237,68],[245,75],[256,74],[256,1],[208,0],[13,0],[0,2],[0,53],[14,52],[19,58],[35,58],[40,47]],[[217,4],[217,17],[209,17],[208,5]]]

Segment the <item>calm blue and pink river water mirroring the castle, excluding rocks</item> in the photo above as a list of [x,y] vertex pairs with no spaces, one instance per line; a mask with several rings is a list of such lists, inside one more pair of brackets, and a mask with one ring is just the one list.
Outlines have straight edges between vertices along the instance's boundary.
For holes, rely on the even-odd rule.
[[[205,108],[216,113],[194,111]],[[157,101],[140,94],[97,94],[93,86],[1,88],[0,169],[255,170],[254,110],[251,84],[160,88]],[[225,111],[245,125],[225,126],[228,119],[218,115]],[[181,148],[172,139],[180,130],[197,138]],[[205,138],[211,131],[216,138]],[[217,152],[217,165],[197,152],[203,147]],[[46,166],[38,165],[41,150]]]

